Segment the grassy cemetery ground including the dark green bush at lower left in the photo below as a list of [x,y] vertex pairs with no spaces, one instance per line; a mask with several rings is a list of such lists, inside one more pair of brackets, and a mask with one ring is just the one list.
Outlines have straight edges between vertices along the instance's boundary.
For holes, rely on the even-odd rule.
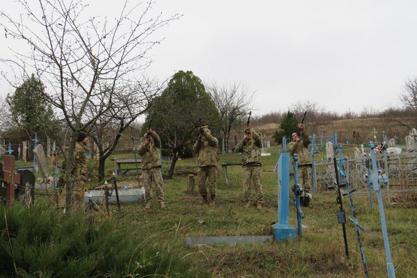
[[[136,202],[122,203],[120,209],[111,204],[110,215],[103,205],[86,215],[63,215],[54,208],[53,192],[38,190],[32,208],[16,204],[2,209],[0,277],[365,277],[356,230],[349,221],[350,257],[345,254],[334,190],[313,196],[313,208],[304,208],[302,235],[295,240],[186,246],[186,236],[272,235],[271,225],[277,222],[277,173],[272,170],[278,148],[267,152],[271,155],[262,158],[265,208],[261,211],[243,207],[240,166],[227,168],[229,183],[225,183],[220,164],[239,163],[240,154],[220,156],[214,208],[197,204],[197,184],[194,193],[188,192],[194,158],[178,161],[174,179],[164,181],[164,209],[155,202],[144,211],[142,202]],[[164,161],[163,172],[167,164]],[[112,161],[106,168],[110,179]],[[133,176],[117,178],[118,185],[134,185]],[[396,277],[417,277],[417,194],[391,194],[391,204],[383,196]],[[354,194],[353,202],[358,222],[366,227],[361,238],[369,277],[387,277],[377,195],[373,192],[373,209],[368,194]],[[352,215],[347,197],[343,208]],[[296,228],[292,203],[289,219]]]

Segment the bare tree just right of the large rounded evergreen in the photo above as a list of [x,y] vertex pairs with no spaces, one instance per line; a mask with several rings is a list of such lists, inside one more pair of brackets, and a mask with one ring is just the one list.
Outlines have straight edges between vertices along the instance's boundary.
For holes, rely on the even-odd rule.
[[224,141],[224,151],[229,152],[229,136],[232,126],[239,120],[247,119],[253,109],[252,101],[255,92],[248,92],[245,85],[232,83],[231,85],[218,85],[215,81],[205,85],[211,95],[220,117],[220,130]]

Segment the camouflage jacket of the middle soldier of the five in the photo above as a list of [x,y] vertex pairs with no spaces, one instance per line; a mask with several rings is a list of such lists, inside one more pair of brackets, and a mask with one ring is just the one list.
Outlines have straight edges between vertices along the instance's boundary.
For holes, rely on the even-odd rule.
[[202,136],[199,136],[193,146],[193,152],[197,154],[197,163],[199,167],[215,166],[219,160],[219,142],[211,134],[205,132]]

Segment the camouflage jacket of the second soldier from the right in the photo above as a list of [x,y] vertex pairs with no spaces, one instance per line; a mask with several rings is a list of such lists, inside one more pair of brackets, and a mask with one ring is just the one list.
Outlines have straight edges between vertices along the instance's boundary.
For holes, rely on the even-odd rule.
[[261,136],[250,129],[252,139],[243,139],[236,145],[236,152],[242,153],[242,165],[261,166]]

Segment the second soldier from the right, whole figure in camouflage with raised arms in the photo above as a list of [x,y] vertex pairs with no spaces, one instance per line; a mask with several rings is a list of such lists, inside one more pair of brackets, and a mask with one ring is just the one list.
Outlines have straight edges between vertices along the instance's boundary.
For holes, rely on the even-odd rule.
[[[245,207],[250,208],[256,203],[257,209],[262,209],[264,204],[262,191],[261,174],[261,136],[246,125],[245,135],[238,145],[236,152],[242,153],[243,170],[243,195],[245,196]],[[255,195],[251,194],[251,183],[254,184]]]

